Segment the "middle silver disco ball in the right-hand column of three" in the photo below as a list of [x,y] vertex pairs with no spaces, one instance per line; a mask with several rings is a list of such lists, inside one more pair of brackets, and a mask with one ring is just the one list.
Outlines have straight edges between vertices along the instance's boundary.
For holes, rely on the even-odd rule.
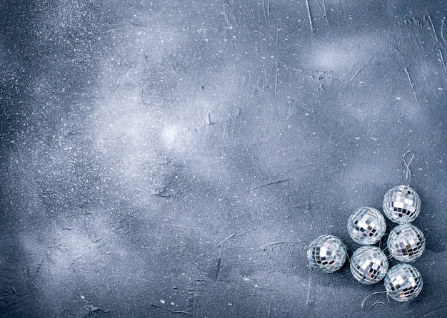
[[388,250],[396,260],[413,262],[426,249],[423,232],[411,224],[398,225],[391,230],[387,242]]

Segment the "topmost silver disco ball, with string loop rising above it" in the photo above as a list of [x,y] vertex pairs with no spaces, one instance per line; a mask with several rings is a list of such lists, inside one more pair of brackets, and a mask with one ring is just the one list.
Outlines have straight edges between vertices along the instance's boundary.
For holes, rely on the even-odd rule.
[[383,198],[383,212],[386,217],[398,224],[413,222],[421,212],[421,198],[406,185],[398,185]]

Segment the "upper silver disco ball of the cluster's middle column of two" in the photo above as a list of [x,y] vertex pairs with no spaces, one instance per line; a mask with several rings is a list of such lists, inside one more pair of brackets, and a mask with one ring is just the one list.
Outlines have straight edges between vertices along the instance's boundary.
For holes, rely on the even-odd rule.
[[378,242],[385,230],[385,217],[373,207],[360,207],[348,219],[349,235],[358,244],[370,245]]

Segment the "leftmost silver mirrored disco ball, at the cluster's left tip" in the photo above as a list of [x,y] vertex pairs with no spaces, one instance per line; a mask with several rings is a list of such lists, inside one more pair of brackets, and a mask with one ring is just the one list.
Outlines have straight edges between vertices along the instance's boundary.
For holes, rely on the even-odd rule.
[[346,261],[346,246],[333,235],[321,235],[308,245],[307,258],[311,267],[320,272],[336,272]]

